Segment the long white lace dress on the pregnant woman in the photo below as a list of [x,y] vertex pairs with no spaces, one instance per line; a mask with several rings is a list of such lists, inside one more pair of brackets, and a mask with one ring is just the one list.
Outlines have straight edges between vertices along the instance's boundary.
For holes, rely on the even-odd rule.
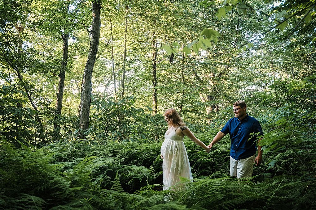
[[[167,132],[166,132],[167,133]],[[165,133],[165,141],[161,145],[163,190],[171,186],[180,186],[180,177],[193,182],[188,154],[183,142],[184,137],[179,136],[175,130]]]

